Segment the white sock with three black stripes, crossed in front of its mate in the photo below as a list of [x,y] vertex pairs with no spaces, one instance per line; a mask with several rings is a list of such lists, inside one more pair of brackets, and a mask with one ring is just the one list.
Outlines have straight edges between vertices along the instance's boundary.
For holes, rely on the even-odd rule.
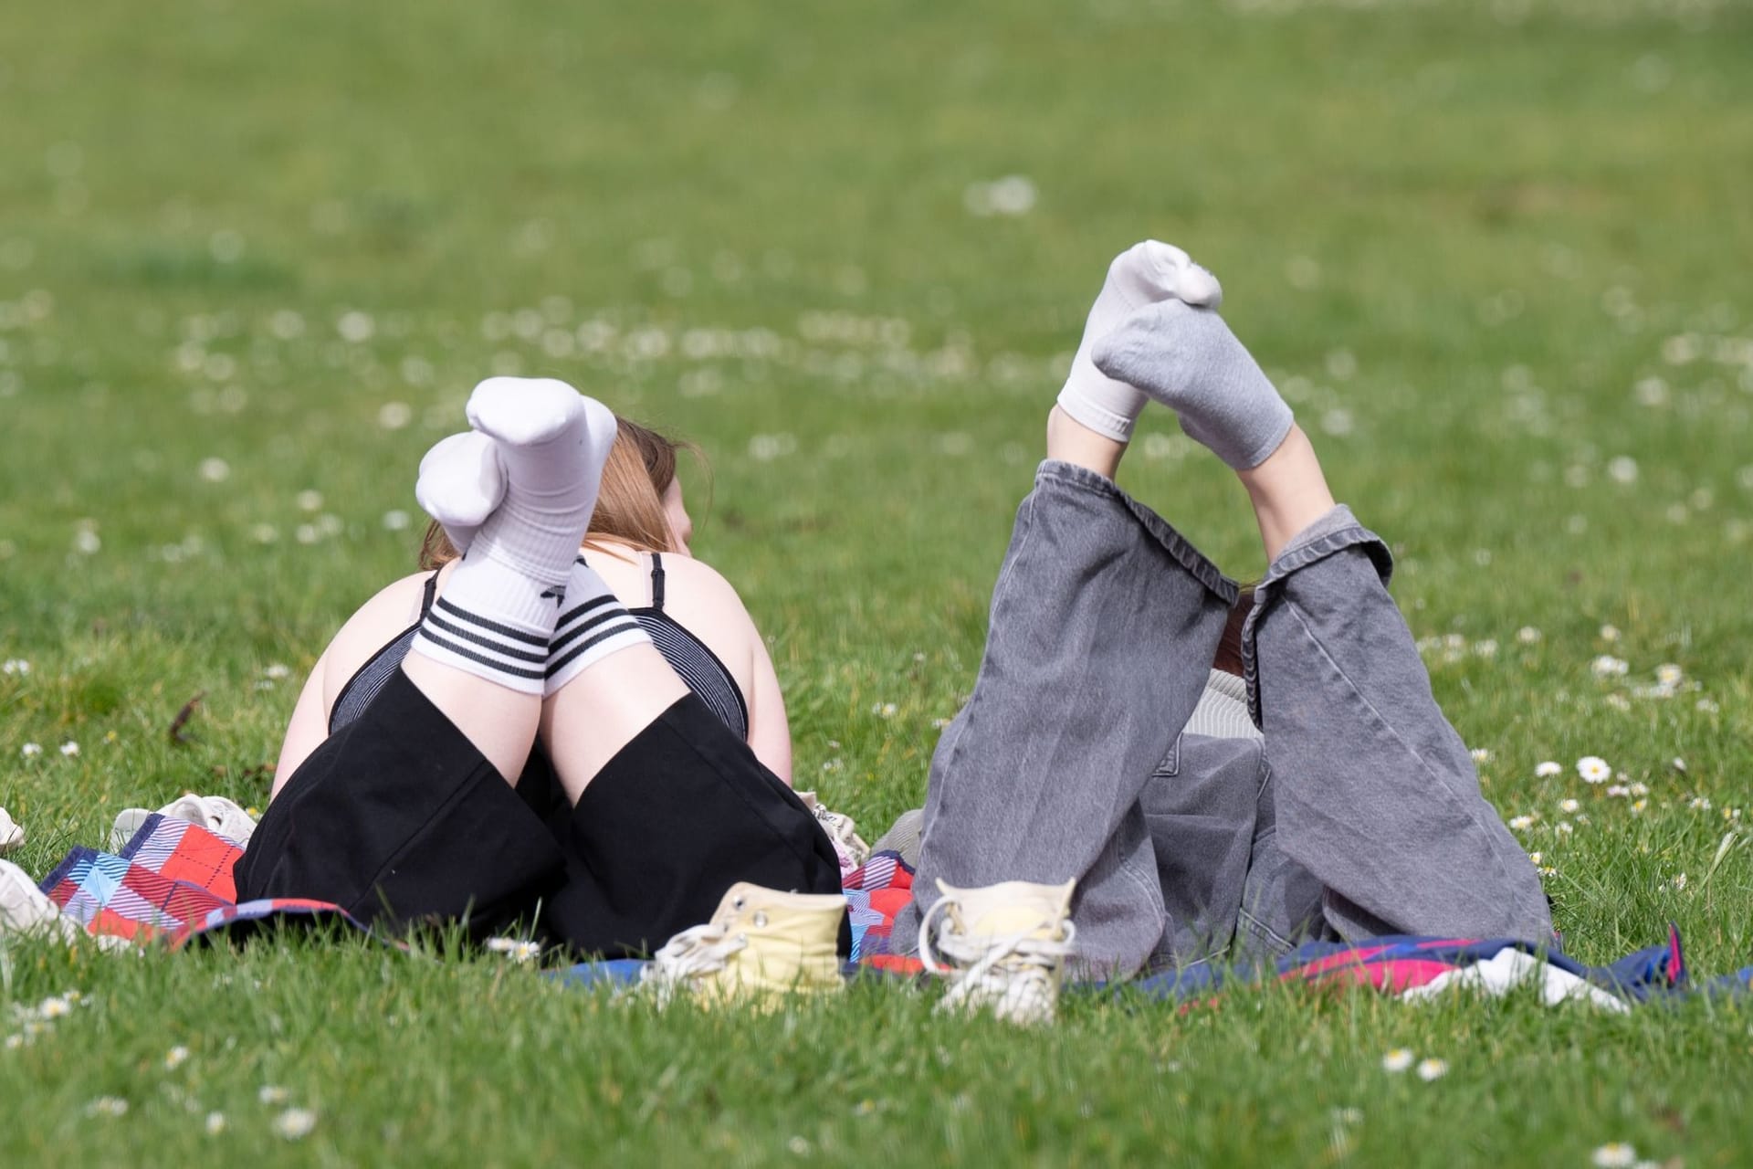
[[468,421],[498,447],[505,499],[475,531],[412,648],[542,694],[615,415],[564,382],[491,377],[470,396]]

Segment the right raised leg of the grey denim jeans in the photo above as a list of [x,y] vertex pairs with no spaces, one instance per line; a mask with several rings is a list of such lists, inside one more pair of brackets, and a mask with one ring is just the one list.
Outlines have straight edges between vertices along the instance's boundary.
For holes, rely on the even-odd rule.
[[1257,861],[1278,876],[1250,880],[1253,903],[1243,910],[1273,932],[1294,932],[1292,918],[1309,908],[1301,868],[1346,939],[1553,945],[1539,876],[1480,796],[1473,757],[1388,598],[1390,570],[1387,545],[1338,507],[1299,533],[1255,589],[1243,662],[1276,815],[1276,841]]

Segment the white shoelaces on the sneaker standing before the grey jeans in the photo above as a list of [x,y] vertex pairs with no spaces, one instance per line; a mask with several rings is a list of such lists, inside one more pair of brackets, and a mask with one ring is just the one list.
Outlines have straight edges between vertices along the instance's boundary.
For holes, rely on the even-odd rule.
[[[919,957],[933,974],[950,980],[941,1010],[990,1006],[999,1018],[1020,1024],[1048,1022],[1059,1001],[1059,966],[1071,953],[1076,927],[1066,922],[1064,938],[1034,938],[1034,929],[1013,934],[969,938],[943,932],[933,943],[934,925],[950,904],[940,897],[919,925]],[[955,966],[943,962],[945,955]]]

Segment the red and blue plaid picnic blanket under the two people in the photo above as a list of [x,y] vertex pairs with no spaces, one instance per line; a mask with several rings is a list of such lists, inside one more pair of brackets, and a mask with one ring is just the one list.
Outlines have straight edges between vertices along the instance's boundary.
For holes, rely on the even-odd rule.
[[[231,866],[244,855],[235,841],[205,827],[151,815],[117,854],[74,848],[40,889],[91,934],[182,948],[216,934],[270,924],[365,924],[326,901],[263,899],[238,904]],[[852,924],[848,974],[913,978],[913,957],[887,953],[896,915],[913,896],[913,871],[896,852],[876,852],[845,878]],[[386,938],[386,941],[391,941]],[[552,971],[577,985],[636,981],[645,962],[617,959]],[[1679,931],[1608,966],[1586,966],[1506,938],[1371,938],[1357,943],[1311,941],[1250,967],[1197,964],[1138,978],[1124,987],[1087,983],[1073,994],[1127,994],[1183,1004],[1217,1001],[1225,988],[1276,980],[1308,987],[1371,987],[1408,1001],[1471,988],[1506,994],[1534,985],[1546,1003],[1588,1001],[1604,1010],[1688,994],[1748,994],[1753,966],[1720,978],[1695,980]]]

